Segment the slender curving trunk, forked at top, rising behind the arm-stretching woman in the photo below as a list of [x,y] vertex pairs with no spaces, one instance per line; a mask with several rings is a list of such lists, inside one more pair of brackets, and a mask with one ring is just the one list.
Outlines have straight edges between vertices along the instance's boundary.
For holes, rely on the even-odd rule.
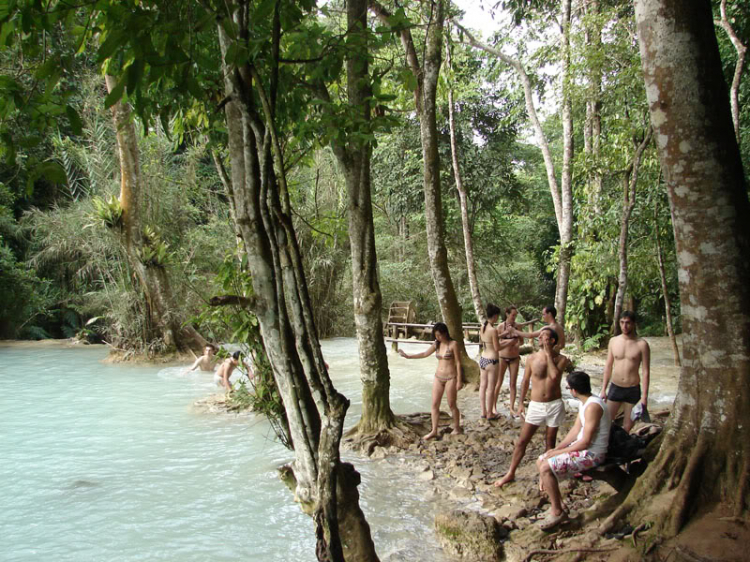
[[[386,24],[390,14],[375,0],[370,0],[370,8]],[[427,8],[429,23],[424,48],[424,61],[420,66],[417,50],[409,28],[400,31],[401,43],[406,52],[406,60],[417,79],[414,100],[419,116],[422,138],[422,158],[424,160],[424,201],[425,223],[427,226],[427,253],[430,258],[430,270],[435,284],[443,321],[448,326],[451,336],[456,340],[461,353],[461,366],[464,379],[479,382],[479,365],[466,354],[461,320],[461,305],[456,297],[450,270],[448,268],[448,249],[445,246],[445,229],[443,225],[442,187],[440,184],[440,154],[438,152],[437,131],[437,84],[442,62],[443,28],[445,23],[444,0],[432,0]]]

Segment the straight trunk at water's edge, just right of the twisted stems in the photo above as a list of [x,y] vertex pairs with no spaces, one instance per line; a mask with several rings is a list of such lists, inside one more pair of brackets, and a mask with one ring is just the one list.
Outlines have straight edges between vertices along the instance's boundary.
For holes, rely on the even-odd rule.
[[[347,2],[347,22],[351,38],[346,62],[349,105],[352,113],[358,116],[361,131],[369,133],[372,88],[367,64],[367,0]],[[354,324],[362,380],[362,417],[357,429],[362,433],[372,433],[392,427],[395,421],[389,399],[390,373],[381,318],[383,297],[378,281],[372,218],[372,146],[368,141],[353,137],[347,145],[334,144],[334,153],[344,169],[349,201]]]

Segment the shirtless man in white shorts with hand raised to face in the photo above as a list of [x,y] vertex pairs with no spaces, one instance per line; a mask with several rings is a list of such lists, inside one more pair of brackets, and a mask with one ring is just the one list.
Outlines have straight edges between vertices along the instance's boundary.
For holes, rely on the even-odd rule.
[[526,447],[539,426],[542,424],[547,426],[545,450],[548,451],[554,449],[557,429],[565,419],[560,381],[565,368],[568,366],[568,358],[556,351],[558,336],[552,328],[542,328],[539,343],[542,348],[526,361],[526,369],[521,383],[521,403],[518,406],[517,413],[519,416],[523,415],[523,401],[526,398],[526,392],[529,390],[529,382],[533,382],[529,411],[526,413],[521,435],[516,442],[515,449],[513,449],[510,468],[505,476],[495,482],[495,486],[498,487],[504,486],[516,478],[516,469],[524,454],[526,454]]

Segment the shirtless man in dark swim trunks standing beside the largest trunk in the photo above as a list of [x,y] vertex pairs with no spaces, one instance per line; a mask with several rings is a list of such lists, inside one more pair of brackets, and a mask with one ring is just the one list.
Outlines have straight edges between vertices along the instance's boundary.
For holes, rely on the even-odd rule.
[[[620,315],[622,334],[609,340],[607,364],[604,366],[604,383],[602,400],[607,401],[610,418],[623,407],[625,431],[633,428],[630,412],[639,401],[646,407],[648,403],[648,386],[651,378],[651,348],[636,333],[635,314],[626,310]],[[643,386],[638,370],[643,374]],[[610,383],[611,379],[611,383]],[[607,393],[609,384],[609,393]]]

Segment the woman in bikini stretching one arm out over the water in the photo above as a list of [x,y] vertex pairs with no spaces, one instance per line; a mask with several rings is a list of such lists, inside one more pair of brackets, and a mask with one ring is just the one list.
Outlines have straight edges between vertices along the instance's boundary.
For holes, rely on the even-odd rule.
[[448,326],[442,322],[438,322],[432,327],[432,337],[435,338],[435,343],[422,353],[408,355],[402,349],[398,350],[401,357],[406,359],[421,359],[422,357],[429,357],[433,353],[438,358],[438,368],[435,372],[435,380],[432,383],[432,431],[424,436],[425,440],[437,436],[440,402],[443,399],[444,392],[448,395],[448,407],[453,414],[451,435],[461,433],[461,413],[456,406],[456,394],[463,385],[458,345],[448,333]]

